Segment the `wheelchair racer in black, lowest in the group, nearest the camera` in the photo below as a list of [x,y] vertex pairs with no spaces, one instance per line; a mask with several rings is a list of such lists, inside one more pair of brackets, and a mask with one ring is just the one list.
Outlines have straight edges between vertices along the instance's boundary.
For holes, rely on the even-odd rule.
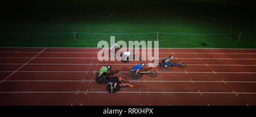
[[114,93],[115,88],[117,87],[118,83],[120,83],[122,81],[123,81],[122,77],[117,77],[117,76],[110,77],[109,81],[108,81],[108,85],[107,85],[107,87],[108,86],[110,87],[109,93]]

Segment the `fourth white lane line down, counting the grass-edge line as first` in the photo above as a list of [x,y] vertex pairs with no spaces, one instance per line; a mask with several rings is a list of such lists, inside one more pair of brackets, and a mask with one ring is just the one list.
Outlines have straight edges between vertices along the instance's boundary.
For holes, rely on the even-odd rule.
[[[22,65],[22,64],[0,64],[0,65]],[[137,65],[137,64],[27,64],[27,65]],[[147,64],[145,64],[147,65]],[[186,64],[187,66],[205,66],[205,64]],[[209,66],[256,66],[256,65],[209,65]]]

